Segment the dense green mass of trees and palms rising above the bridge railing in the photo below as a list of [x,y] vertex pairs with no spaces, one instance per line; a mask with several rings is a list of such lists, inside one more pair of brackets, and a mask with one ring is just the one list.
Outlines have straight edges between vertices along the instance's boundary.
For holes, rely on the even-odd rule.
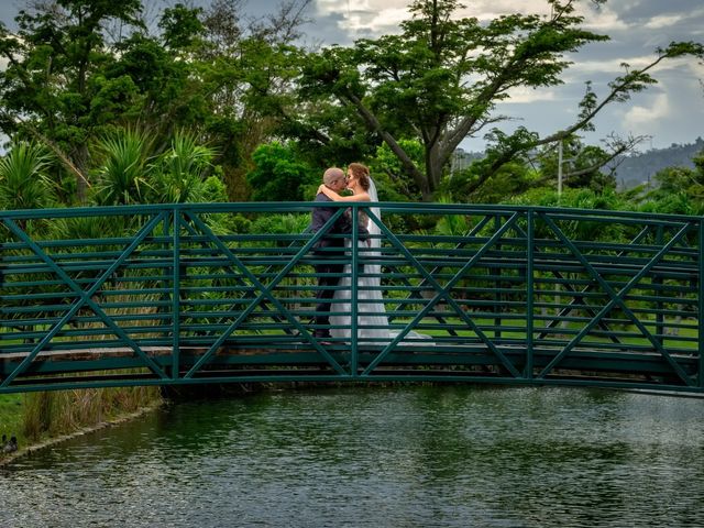
[[[457,0],[414,0],[398,34],[307,50],[310,1],[256,21],[226,0],[156,13],[142,0],[28,2],[15,32],[0,24],[2,206],[307,200],[327,166],[352,161],[385,200],[499,202],[556,186],[556,144],[570,160],[564,188],[601,194],[615,186],[602,167],[639,139],[597,147],[579,132],[656,82],[654,65],[703,56],[673,43],[607,94],[590,87],[566,130],[506,135],[491,127],[509,89],[562,82],[565,54],[608,38],[583,28],[574,1],[484,23],[457,16]],[[480,133],[485,155],[450,170]]]

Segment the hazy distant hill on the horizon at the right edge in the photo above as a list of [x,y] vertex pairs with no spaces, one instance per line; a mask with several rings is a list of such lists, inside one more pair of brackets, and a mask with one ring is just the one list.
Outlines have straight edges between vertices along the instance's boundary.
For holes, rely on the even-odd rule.
[[672,144],[668,148],[651,148],[640,154],[623,156],[616,168],[619,189],[630,189],[648,183],[658,172],[668,167],[693,167],[692,158],[704,151],[704,140],[697,138],[686,145]]

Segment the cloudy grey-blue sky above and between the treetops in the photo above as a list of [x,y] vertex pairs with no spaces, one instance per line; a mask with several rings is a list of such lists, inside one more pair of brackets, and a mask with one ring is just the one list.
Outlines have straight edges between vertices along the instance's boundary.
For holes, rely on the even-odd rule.
[[[176,0],[147,0],[152,6],[169,6]],[[182,0],[184,1],[184,0]],[[189,0],[207,6],[209,0]],[[249,16],[276,11],[279,0],[244,0]],[[410,0],[311,0],[306,14],[311,20],[302,28],[304,43],[322,46],[351,45],[356,38],[373,38],[399,33],[399,22],[409,18]],[[460,16],[491,20],[502,14],[547,12],[541,0],[463,0]],[[9,28],[23,0],[0,0],[0,20]],[[579,113],[578,103],[591,80],[597,96],[605,95],[608,82],[622,75],[623,63],[632,67],[647,64],[656,50],[672,41],[704,43],[704,1],[702,0],[607,0],[598,9],[580,2],[583,26],[606,34],[607,42],[582,47],[569,57],[574,64],[562,75],[558,87],[512,92],[497,113],[509,121],[506,131],[524,125],[541,135],[569,127]],[[636,94],[626,103],[610,105],[596,118],[596,132],[585,133],[584,141],[600,144],[609,134],[622,138],[648,135],[640,150],[662,148],[673,143],[693,143],[704,136],[704,64],[693,58],[670,61],[653,73],[658,84]],[[466,139],[468,151],[482,151],[483,138]]]

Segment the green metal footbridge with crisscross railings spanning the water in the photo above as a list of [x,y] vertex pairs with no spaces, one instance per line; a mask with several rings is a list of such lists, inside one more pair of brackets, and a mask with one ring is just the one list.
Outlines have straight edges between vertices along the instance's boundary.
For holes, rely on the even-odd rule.
[[[0,393],[296,381],[704,393],[703,218],[381,204],[383,222],[369,211],[381,249],[326,258],[350,264],[338,288],[352,299],[360,278],[380,280],[388,338],[364,338],[352,301],[351,337],[323,343],[311,252],[323,232],[305,229],[319,206],[0,212]],[[333,207],[352,209],[356,234],[364,205]]]

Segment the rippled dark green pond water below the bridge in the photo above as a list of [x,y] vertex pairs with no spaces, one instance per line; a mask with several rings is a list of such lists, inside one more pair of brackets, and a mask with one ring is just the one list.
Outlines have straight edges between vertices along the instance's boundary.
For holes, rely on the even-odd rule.
[[178,404],[0,470],[0,521],[702,527],[704,400],[415,386]]

